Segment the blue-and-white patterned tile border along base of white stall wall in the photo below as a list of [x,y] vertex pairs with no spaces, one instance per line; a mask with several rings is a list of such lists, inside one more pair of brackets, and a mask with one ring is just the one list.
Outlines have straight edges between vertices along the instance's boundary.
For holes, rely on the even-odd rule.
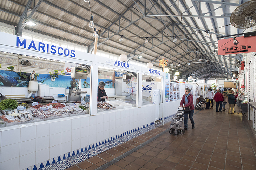
[[[163,125],[163,122],[158,123],[159,126]],[[63,156],[58,156],[56,158],[53,158],[51,160],[45,161],[43,163],[34,165],[30,168],[27,168],[27,170],[64,170],[67,169],[73,165],[76,165],[80,162],[85,161],[86,159],[89,159],[93,156],[96,156],[102,152],[105,152],[106,150],[109,150],[113,147],[116,147],[126,141],[129,141],[137,136],[140,136],[150,130],[153,130],[156,128],[155,122],[143,125],[141,127],[138,127],[136,129],[129,130],[127,132],[123,132],[123,134],[119,134],[118,136],[113,136],[105,141],[97,142],[95,145],[91,144],[87,147],[83,147],[80,149],[77,149],[75,151],[71,151],[68,154],[64,154]]]

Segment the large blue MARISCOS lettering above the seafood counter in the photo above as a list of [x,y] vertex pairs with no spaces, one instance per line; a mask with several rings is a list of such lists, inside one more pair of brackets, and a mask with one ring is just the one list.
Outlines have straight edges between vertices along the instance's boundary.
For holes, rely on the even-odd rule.
[[[28,45],[29,44],[29,45]],[[28,48],[27,48],[28,46]],[[23,48],[27,48],[27,49],[33,49],[35,51],[40,51],[40,52],[46,52],[46,53],[52,53],[52,54],[59,54],[59,55],[65,55],[65,56],[71,56],[71,57],[75,57],[75,50],[70,50],[68,48],[65,48],[65,50],[62,47],[58,47],[58,49],[56,49],[57,47],[51,44],[47,44],[47,43],[43,43],[43,42],[34,42],[33,40],[27,40],[24,39],[22,42],[20,40],[20,37],[16,37],[16,47],[23,47]],[[46,47],[46,50],[45,50]],[[49,51],[50,50],[50,51]],[[120,63],[122,65],[122,63]],[[119,64],[119,65],[120,65]],[[124,65],[124,64],[123,64]],[[128,65],[128,64],[127,64]],[[129,67],[127,67],[129,68]]]

